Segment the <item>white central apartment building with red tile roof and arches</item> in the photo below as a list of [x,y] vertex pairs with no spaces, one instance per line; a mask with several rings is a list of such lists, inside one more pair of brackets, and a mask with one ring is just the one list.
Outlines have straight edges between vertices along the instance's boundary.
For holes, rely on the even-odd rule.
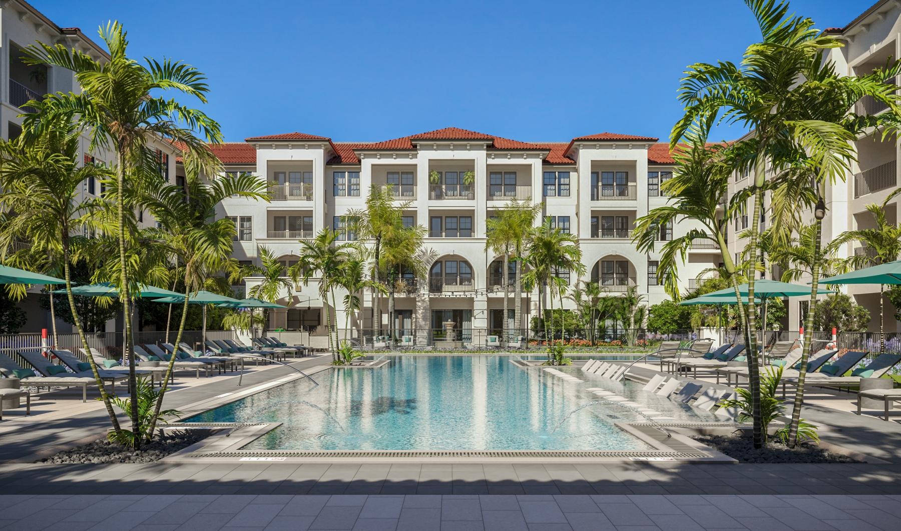
[[[513,327],[515,312],[523,313],[525,323],[534,315],[536,293],[527,294],[520,308],[511,297],[505,323],[503,265],[486,250],[486,221],[511,199],[542,203],[543,218],[578,236],[587,273],[581,279],[571,275],[570,285],[597,282],[613,295],[634,286],[649,304],[667,297],[656,275],[658,256],[637,252],[631,240],[636,218],[667,201],[660,183],[672,175],[673,160],[656,138],[599,133],[568,142],[520,142],[449,127],[383,142],[285,133],[214,148],[227,171],[254,172],[272,192],[268,203],[223,201],[220,214],[237,224],[234,256],[240,261],[257,260],[265,246],[290,264],[298,258],[297,240],[324,227],[354,239],[342,216],[364,207],[370,186],[393,185],[398,203],[409,202],[405,223],[426,227],[424,247],[438,257],[427,279],[410,278],[396,298],[396,329],[421,331],[417,337],[449,321],[468,334]],[[661,229],[660,244],[691,223]],[[699,242],[681,275],[685,288],[718,262],[718,250]],[[258,282],[246,280],[249,288]],[[323,324],[314,284],[296,286],[281,300],[292,309],[272,312],[271,326]],[[571,303],[564,300],[564,307]],[[385,301],[381,310],[387,325]],[[367,294],[363,311],[350,316],[351,326],[371,326],[371,312]]]

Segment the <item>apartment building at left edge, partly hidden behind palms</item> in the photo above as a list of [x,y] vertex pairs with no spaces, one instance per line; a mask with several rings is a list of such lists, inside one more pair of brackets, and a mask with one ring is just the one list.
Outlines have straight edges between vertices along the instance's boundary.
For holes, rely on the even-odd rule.
[[[74,73],[59,67],[27,65],[23,61],[23,49],[36,41],[46,44],[62,44],[68,48],[76,48],[94,60],[105,60],[109,57],[106,50],[96,41],[92,41],[78,28],[63,28],[53,23],[35,7],[22,0],[5,0],[0,2],[0,136],[10,140],[22,133],[23,112],[32,109],[26,104],[31,100],[40,100],[43,96],[54,92],[79,93]],[[90,139],[83,135],[81,151],[84,162],[108,164],[114,160],[111,151],[91,149]],[[157,142],[153,146],[159,151],[160,172],[175,182],[177,150],[167,142]],[[103,184],[94,180],[82,185],[82,197],[99,196]],[[137,213],[142,225],[153,223],[147,213]],[[18,243],[26,246],[27,242]],[[21,307],[27,312],[28,321],[22,332],[40,332],[41,328],[50,328],[50,314],[41,309],[38,302],[39,290],[32,288],[32,294],[23,301]],[[114,322],[109,327],[113,328]],[[68,332],[69,325],[57,320],[60,333]]]

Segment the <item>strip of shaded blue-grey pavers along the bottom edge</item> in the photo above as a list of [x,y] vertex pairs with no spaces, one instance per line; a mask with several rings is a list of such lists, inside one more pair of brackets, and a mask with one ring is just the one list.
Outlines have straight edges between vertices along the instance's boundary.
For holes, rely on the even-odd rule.
[[0,497],[0,528],[895,531],[897,496],[159,495]]

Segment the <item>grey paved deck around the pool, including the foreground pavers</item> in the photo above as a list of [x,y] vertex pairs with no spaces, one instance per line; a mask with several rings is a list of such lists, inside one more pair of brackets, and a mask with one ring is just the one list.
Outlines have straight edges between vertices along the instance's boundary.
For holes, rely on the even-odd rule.
[[[241,389],[292,372],[254,368]],[[188,380],[167,407],[237,387],[231,376]],[[0,528],[777,531],[895,530],[901,521],[901,424],[819,401],[805,417],[841,428],[824,438],[891,463],[11,462],[104,433],[100,404],[51,395],[35,401],[37,415],[13,410],[0,423]]]

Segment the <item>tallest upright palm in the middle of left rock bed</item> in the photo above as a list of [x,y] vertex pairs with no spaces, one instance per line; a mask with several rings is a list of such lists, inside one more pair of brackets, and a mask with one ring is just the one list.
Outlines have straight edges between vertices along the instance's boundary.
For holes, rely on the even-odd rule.
[[[176,99],[157,96],[159,91],[173,90],[196,97],[206,103],[209,87],[197,69],[175,60],[146,60],[146,65],[132,60],[128,39],[122,24],[108,23],[99,31],[109,50],[108,60],[94,60],[77,48],[63,44],[50,46],[43,42],[24,50],[25,62],[72,70],[81,92],[55,93],[41,102],[30,102],[34,113],[25,114],[23,134],[40,135],[59,124],[59,119],[77,120],[91,135],[91,148],[112,147],[116,156],[115,202],[118,208],[119,261],[126,264],[125,202],[123,190],[127,179],[159,179],[160,157],[152,149],[153,142],[174,142],[198,158],[213,159],[209,142],[221,142],[219,124],[203,112],[183,105]],[[150,187],[156,188],[156,187]],[[129,310],[129,271],[121,270],[119,292],[123,300],[123,355],[130,360],[129,387],[136,389],[132,340],[132,316]],[[137,428],[138,404],[132,400],[132,424]]]

